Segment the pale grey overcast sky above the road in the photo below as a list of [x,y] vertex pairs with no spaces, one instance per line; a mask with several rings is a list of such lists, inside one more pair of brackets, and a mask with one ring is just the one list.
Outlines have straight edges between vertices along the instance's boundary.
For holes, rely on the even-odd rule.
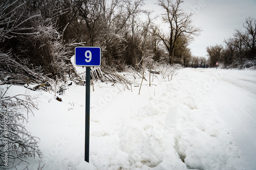
[[[153,15],[161,14],[162,9],[155,4],[157,0],[145,2],[146,9],[155,11]],[[222,44],[224,38],[232,37],[234,29],[243,30],[245,18],[256,18],[256,0],[184,0],[182,7],[195,13],[194,25],[203,30],[189,45],[192,54],[198,57],[206,56],[207,46]]]

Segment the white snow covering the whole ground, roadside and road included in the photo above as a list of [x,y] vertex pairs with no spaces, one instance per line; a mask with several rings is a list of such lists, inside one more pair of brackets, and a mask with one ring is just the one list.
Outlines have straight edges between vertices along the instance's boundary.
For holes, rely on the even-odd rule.
[[[147,73],[140,95],[138,75],[122,76],[132,86],[91,86],[90,164],[83,161],[83,86],[68,86],[62,102],[10,88],[38,96],[25,126],[40,138],[42,169],[256,169],[255,70],[183,68],[172,81],[151,75],[151,86]],[[37,168],[38,159],[28,161]]]

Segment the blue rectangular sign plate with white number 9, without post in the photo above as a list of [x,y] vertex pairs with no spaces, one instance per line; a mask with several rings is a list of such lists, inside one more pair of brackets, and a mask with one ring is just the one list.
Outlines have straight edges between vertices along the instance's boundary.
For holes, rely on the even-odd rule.
[[77,66],[96,67],[101,65],[101,48],[95,46],[78,46],[75,48]]

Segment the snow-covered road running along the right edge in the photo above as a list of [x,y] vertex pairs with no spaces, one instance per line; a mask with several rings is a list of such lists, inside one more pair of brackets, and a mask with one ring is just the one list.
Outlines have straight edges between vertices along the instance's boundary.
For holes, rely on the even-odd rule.
[[256,71],[194,70],[203,71],[204,79],[208,76],[205,88],[225,123],[233,129],[234,140],[248,160],[248,169],[256,169]]

